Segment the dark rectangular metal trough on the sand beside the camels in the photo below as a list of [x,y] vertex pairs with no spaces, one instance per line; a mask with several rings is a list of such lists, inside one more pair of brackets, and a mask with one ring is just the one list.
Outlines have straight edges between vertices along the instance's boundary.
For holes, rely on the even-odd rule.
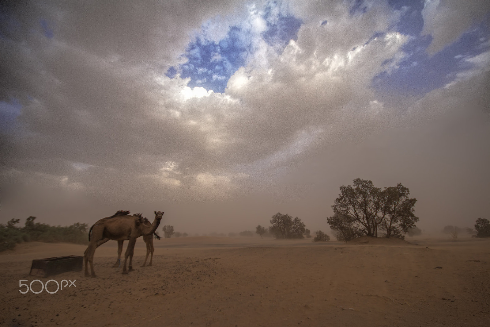
[[82,270],[83,256],[69,255],[32,260],[30,275],[48,277],[58,273],[79,272]]

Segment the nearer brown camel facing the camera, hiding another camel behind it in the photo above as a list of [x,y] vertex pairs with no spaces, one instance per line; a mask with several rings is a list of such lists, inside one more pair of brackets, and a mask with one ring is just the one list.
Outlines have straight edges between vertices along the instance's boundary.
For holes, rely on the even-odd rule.
[[[136,239],[142,235],[153,235],[160,224],[163,212],[155,211],[155,219],[150,225],[144,224],[141,218],[129,216],[129,211],[118,211],[111,217],[98,220],[89,231],[90,244],[85,250],[85,276],[88,277],[88,263],[92,277],[97,277],[94,271],[94,253],[96,248],[108,240],[124,241],[129,240],[126,252],[124,253],[123,274],[133,271],[132,260]],[[126,269],[127,258],[129,257],[129,270]]]

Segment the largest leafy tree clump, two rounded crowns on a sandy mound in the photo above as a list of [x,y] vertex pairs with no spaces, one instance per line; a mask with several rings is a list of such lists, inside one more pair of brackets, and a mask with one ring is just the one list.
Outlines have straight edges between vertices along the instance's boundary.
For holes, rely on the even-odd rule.
[[341,186],[335,199],[334,216],[327,218],[338,240],[349,241],[359,236],[401,237],[415,228],[417,199],[402,184],[395,187],[374,187],[368,180],[356,178],[353,185]]

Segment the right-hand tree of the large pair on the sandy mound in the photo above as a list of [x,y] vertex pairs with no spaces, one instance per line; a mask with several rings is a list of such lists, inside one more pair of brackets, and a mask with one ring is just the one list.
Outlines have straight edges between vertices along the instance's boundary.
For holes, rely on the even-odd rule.
[[387,238],[403,238],[403,234],[416,227],[418,217],[415,216],[416,198],[410,198],[410,191],[401,183],[395,187],[385,188],[381,192],[383,229]]

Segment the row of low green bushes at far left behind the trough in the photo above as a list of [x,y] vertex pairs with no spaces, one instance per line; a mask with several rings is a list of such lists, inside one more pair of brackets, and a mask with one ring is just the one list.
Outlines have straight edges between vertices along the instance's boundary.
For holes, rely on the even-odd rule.
[[6,225],[0,224],[0,251],[14,249],[22,242],[67,242],[88,244],[88,225],[76,222],[71,226],[50,226],[34,222],[36,217],[30,216],[25,220],[24,227],[17,224],[20,219],[10,219]]

